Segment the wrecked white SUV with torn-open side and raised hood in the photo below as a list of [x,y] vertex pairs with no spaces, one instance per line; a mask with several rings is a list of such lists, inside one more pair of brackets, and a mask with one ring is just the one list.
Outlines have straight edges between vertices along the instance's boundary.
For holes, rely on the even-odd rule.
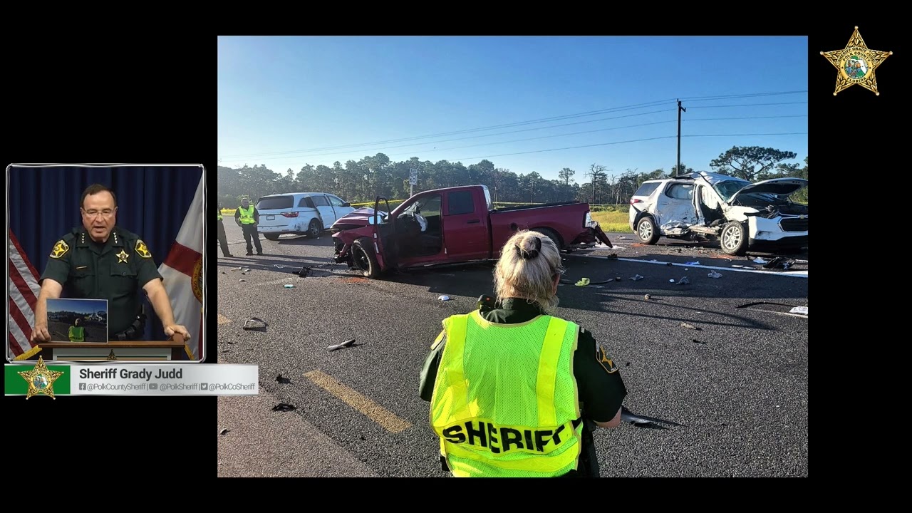
[[789,196],[802,178],[750,183],[726,174],[688,173],[649,180],[630,198],[630,229],[643,244],[658,237],[718,239],[722,251],[797,251],[807,246],[807,205]]

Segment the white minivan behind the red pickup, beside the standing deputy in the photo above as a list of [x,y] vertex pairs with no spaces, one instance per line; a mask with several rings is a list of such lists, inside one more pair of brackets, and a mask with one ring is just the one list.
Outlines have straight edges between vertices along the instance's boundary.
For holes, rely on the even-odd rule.
[[277,240],[283,234],[319,236],[355,208],[333,194],[285,193],[261,197],[256,210],[260,213],[257,232]]

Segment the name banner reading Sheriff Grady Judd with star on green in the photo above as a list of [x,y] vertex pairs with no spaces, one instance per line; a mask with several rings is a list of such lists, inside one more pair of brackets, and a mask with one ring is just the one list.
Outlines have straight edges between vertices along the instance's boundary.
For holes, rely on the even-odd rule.
[[257,395],[259,367],[237,364],[5,365],[5,395]]

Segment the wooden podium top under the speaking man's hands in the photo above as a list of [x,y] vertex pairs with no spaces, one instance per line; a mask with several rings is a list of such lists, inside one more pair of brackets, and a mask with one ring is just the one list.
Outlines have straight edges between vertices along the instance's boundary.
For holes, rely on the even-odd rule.
[[174,361],[187,360],[184,340],[175,333],[171,340],[111,340],[109,342],[42,342],[38,355],[45,361]]

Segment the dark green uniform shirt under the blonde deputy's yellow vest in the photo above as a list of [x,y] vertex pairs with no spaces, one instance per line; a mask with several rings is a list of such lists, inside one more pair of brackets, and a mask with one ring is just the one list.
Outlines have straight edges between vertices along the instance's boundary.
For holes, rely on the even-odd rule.
[[[544,311],[537,304],[530,304],[525,299],[503,299],[501,306],[500,309],[482,307],[482,318],[498,324],[515,324],[544,315]],[[434,393],[434,382],[437,380],[440,355],[446,345],[445,332],[441,331],[438,338],[441,340],[440,343],[433,346],[421,369],[419,393],[421,399],[429,403]],[[592,333],[582,327],[579,329],[579,337],[576,340],[573,372],[579,392],[580,410],[586,420],[608,422],[615,418],[624,397],[627,396],[627,388],[624,386],[620,372],[617,371],[615,362],[601,346],[596,344]],[[587,429],[584,430],[583,459],[585,465],[581,466],[581,471],[574,474],[575,476],[598,476],[592,429],[593,426],[587,424]],[[440,463],[445,465],[442,459]]]

